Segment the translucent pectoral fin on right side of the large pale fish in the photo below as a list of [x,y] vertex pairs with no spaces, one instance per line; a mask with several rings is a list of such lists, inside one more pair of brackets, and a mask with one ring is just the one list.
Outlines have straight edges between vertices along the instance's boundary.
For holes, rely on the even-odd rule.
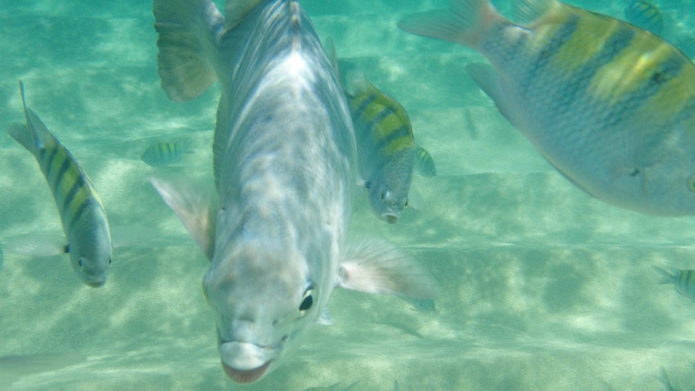
[[384,240],[361,240],[348,245],[336,286],[418,299],[434,299],[439,291],[424,267]]

